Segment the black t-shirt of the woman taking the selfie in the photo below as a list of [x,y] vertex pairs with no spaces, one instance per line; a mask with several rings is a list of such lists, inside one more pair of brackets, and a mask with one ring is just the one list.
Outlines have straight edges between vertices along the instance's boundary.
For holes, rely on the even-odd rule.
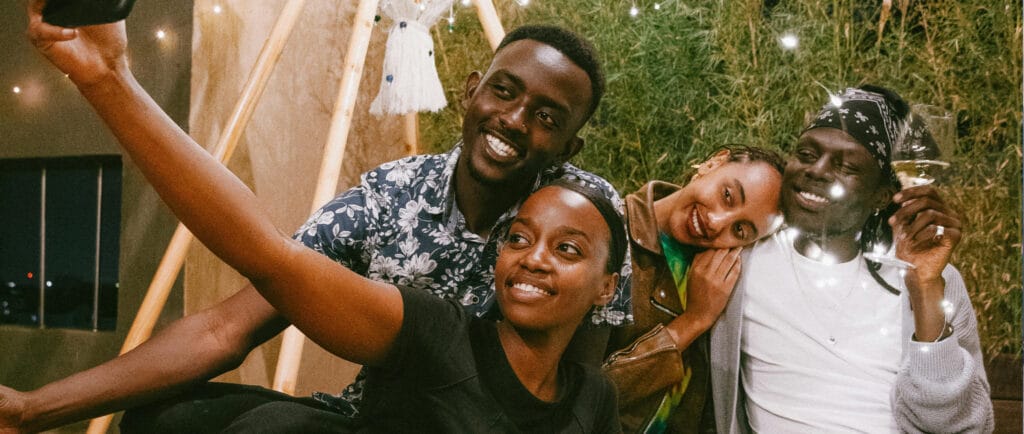
[[542,401],[515,376],[494,321],[398,288],[401,331],[368,372],[356,432],[620,432],[614,389],[596,367],[563,361],[557,400]]

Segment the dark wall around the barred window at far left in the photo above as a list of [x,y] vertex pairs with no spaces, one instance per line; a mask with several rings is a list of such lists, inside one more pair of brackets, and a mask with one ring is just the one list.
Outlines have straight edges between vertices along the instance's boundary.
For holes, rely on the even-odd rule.
[[[63,75],[25,38],[25,1],[0,2],[0,159],[117,155],[114,137]],[[187,129],[193,2],[138,0],[128,18],[129,58],[157,102]],[[158,39],[164,30],[167,37]],[[12,89],[18,86],[20,93]],[[114,332],[0,326],[0,384],[27,390],[117,355],[176,220],[124,162],[118,324]],[[161,324],[181,314],[175,285]],[[84,425],[73,427],[80,431]]]

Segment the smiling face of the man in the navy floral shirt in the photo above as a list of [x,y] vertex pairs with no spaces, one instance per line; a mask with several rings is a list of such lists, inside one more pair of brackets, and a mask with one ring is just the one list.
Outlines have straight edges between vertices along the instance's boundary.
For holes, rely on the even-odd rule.
[[541,170],[580,150],[588,116],[587,73],[551,46],[520,40],[466,83],[463,159],[483,184],[532,182]]

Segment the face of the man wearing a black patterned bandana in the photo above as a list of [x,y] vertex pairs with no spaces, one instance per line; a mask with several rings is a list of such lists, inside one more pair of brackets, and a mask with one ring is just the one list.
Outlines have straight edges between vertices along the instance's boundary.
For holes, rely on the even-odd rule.
[[782,212],[803,231],[854,234],[891,188],[871,154],[849,134],[815,128],[797,141],[782,176]]

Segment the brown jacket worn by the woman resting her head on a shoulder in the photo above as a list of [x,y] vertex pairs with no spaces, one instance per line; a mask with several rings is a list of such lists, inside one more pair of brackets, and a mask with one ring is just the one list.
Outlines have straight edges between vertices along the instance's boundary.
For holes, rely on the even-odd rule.
[[[633,259],[632,326],[611,332],[603,370],[618,392],[618,419],[627,433],[639,432],[653,417],[670,387],[682,381],[685,362],[693,370],[683,400],[670,417],[670,433],[714,432],[710,400],[708,334],[683,351],[664,328],[682,312],[654,219],[654,201],[680,187],[651,181],[626,197]],[[674,314],[666,312],[667,308]],[[707,415],[707,417],[706,417]]]

